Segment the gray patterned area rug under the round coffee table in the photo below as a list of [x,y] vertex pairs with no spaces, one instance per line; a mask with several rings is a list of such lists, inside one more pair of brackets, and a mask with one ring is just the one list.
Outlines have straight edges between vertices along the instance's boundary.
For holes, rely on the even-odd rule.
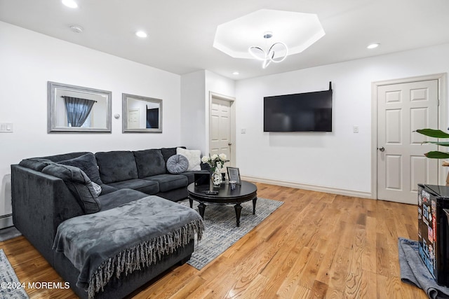
[[[189,200],[183,200],[181,204],[189,206]],[[198,211],[198,202],[194,201],[194,209]],[[240,227],[236,227],[236,212],[234,205],[208,204],[204,212],[204,225],[201,241],[195,240],[195,249],[189,265],[201,270],[214,258],[220,256],[232,244],[246,235],[256,225],[273,213],[283,202],[257,198],[255,215],[253,215],[253,202],[243,202],[241,206]]]

